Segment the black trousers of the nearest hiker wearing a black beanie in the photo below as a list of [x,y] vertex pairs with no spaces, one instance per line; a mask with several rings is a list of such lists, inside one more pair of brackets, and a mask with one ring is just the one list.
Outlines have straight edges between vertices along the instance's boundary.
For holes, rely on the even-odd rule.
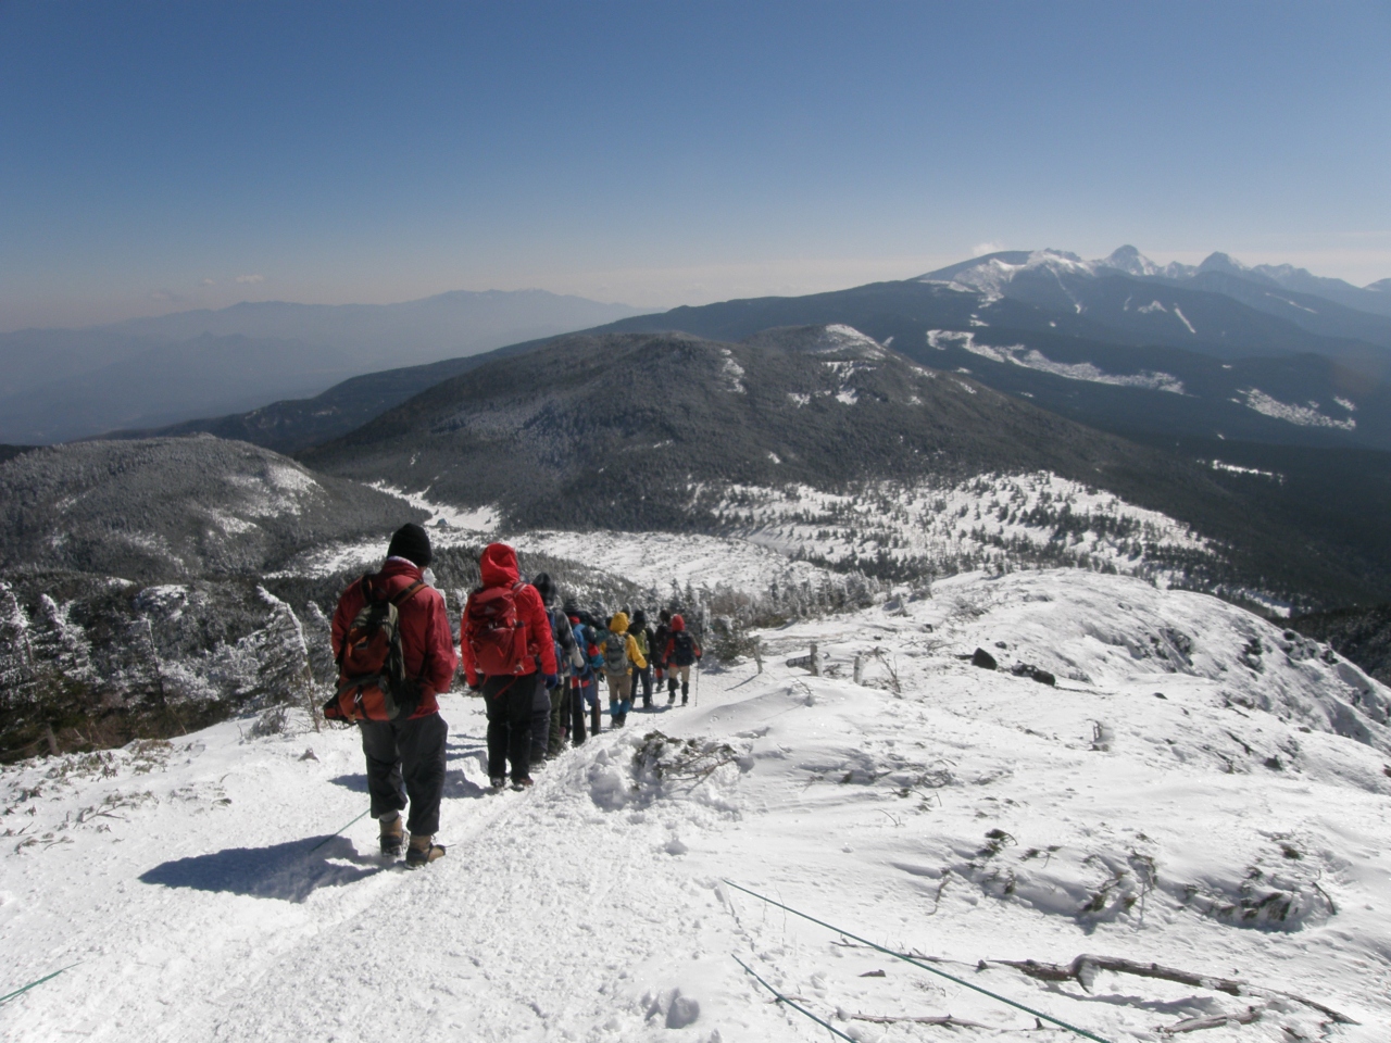
[[363,720],[362,752],[367,757],[367,793],[371,816],[405,811],[412,836],[440,832],[440,798],[444,795],[445,740],[449,726],[438,713],[410,720]]

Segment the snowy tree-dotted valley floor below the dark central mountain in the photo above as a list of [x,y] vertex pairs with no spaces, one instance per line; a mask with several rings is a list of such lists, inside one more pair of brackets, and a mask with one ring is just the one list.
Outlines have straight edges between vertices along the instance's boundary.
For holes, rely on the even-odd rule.
[[[691,501],[711,510],[729,534],[540,530],[501,538],[517,549],[618,572],[641,587],[665,591],[675,581],[750,594],[772,584],[833,584],[843,581],[846,566],[885,563],[921,574],[1066,563],[1170,585],[1185,580],[1184,570],[1195,560],[1223,553],[1167,515],[1049,471],[875,483],[847,494],[810,485],[693,484]],[[437,545],[498,538],[491,508],[451,513],[420,496],[412,503],[435,512],[430,534]],[[444,526],[435,524],[440,519]],[[384,544],[385,537],[325,545],[287,563],[280,574],[370,567]]]

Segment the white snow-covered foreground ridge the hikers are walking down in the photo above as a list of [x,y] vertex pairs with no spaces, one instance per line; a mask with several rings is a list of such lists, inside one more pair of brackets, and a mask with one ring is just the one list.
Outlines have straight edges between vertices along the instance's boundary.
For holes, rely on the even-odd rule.
[[[416,873],[369,819],[325,841],[366,809],[352,731],[227,723],[6,769],[0,993],[71,968],[0,1033],[828,1037],[737,955],[854,1039],[1066,1037],[729,879],[1117,1043],[1193,1019],[1210,1043],[1385,1039],[1388,693],[1327,649],[1084,570],[960,576],[764,641],[762,674],[707,672],[698,705],[634,713],[524,794],[483,794],[480,706],[447,697],[451,850]],[[819,677],[783,665],[811,641]],[[1084,953],[1252,987],[996,962]],[[988,1028],[862,1019],[949,1014]]]

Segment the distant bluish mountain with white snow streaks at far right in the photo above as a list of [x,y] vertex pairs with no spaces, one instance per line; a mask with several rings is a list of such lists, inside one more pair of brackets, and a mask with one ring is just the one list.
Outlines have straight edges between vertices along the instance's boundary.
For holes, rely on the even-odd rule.
[[[999,285],[1007,295],[954,282],[967,277],[968,263],[926,282],[675,309],[609,328],[741,341],[775,325],[847,324],[924,366],[965,369],[989,387],[1123,435],[1391,448],[1384,346],[1330,339],[1220,292],[1057,252],[985,260],[1008,275]],[[1029,286],[1038,292],[1025,292]],[[1294,300],[1276,284],[1260,292],[1267,291]],[[1251,392],[1327,423],[1260,413],[1248,406]]]

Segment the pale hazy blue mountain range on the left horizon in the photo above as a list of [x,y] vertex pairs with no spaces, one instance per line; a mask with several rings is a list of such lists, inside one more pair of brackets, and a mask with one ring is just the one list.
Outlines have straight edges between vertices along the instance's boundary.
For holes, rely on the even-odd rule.
[[307,398],[362,373],[644,314],[540,289],[401,305],[242,303],[0,334],[0,442],[40,445]]

